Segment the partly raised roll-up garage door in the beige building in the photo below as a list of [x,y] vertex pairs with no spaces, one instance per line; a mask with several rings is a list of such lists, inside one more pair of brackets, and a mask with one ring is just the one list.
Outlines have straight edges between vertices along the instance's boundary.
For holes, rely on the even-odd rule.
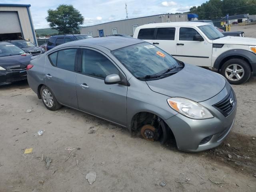
[[17,12],[0,12],[0,34],[21,33]]

